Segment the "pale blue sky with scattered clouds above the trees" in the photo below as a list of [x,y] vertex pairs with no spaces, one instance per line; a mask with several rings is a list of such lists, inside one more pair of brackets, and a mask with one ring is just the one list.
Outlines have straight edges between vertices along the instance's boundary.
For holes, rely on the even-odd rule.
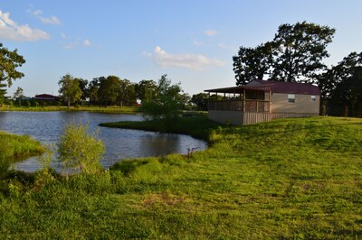
[[190,95],[235,85],[240,46],[271,41],[283,23],[335,28],[327,65],[362,51],[360,0],[0,0],[0,42],[25,64],[8,96],[58,95],[58,81],[167,74]]

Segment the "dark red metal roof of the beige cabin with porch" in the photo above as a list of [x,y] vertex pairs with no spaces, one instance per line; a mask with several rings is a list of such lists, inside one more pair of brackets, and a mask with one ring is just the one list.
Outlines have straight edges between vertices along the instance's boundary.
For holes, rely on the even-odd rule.
[[262,80],[262,79],[253,79],[248,84],[243,86],[208,89],[205,90],[205,92],[242,93],[243,89],[263,90],[263,91],[271,90],[271,92],[273,93],[320,95],[319,88],[309,83],[281,82],[281,81]]

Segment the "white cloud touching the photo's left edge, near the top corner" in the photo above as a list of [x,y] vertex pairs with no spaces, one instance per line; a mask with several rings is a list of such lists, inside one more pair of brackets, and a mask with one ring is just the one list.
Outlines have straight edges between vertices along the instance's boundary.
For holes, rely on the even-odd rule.
[[0,10],[0,39],[23,42],[49,38],[47,32],[32,29],[28,24],[19,25],[10,19],[10,13],[3,13]]

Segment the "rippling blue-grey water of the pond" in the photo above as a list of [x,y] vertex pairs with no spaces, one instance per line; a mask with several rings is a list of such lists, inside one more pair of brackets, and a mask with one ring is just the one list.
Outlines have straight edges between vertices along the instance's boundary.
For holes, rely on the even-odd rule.
[[[203,150],[204,141],[183,134],[159,134],[140,130],[99,127],[100,123],[141,121],[142,115],[100,114],[90,112],[0,112],[0,130],[12,134],[28,134],[43,144],[55,146],[70,123],[89,125],[90,131],[100,129],[106,152],[100,163],[108,168],[123,159],[186,153],[188,148]],[[1,152],[0,152],[1,154]],[[57,169],[53,164],[52,167]],[[14,164],[16,170],[36,171],[35,158]]]

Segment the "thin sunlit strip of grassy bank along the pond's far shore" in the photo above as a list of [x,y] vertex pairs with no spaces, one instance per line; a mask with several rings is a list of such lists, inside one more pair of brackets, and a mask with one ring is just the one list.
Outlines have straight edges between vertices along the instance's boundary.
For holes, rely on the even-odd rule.
[[28,111],[28,112],[46,112],[46,111],[89,111],[96,113],[115,113],[115,114],[132,114],[138,113],[139,107],[136,106],[3,106],[0,111]]

